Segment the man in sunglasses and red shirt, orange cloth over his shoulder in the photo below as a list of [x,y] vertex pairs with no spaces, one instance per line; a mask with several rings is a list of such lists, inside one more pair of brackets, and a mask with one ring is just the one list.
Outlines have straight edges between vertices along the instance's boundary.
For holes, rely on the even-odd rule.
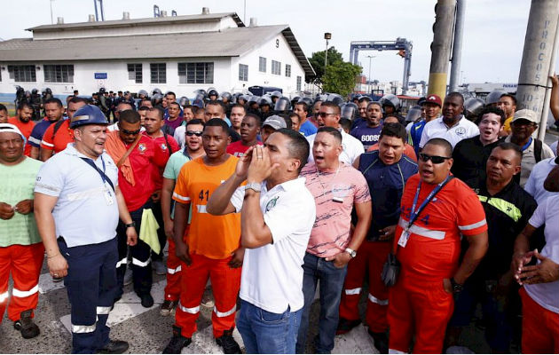
[[[153,170],[159,171],[165,167],[162,154],[155,154],[152,138],[140,133],[140,117],[138,112],[125,110],[120,113],[118,131],[112,131],[106,137],[106,152],[111,155],[118,168],[118,185],[121,187],[124,201],[130,210],[133,226],[139,234],[142,216],[146,209],[154,209],[152,195],[155,191]],[[132,225],[119,223],[118,235],[117,279],[120,289],[117,298],[122,296],[124,272],[128,262],[128,248],[126,246],[125,231]],[[141,304],[149,308],[154,305],[154,298],[150,295],[152,288],[152,259],[151,248],[145,241],[138,239],[138,244],[130,247],[132,256],[132,280],[134,291],[141,299]]]

